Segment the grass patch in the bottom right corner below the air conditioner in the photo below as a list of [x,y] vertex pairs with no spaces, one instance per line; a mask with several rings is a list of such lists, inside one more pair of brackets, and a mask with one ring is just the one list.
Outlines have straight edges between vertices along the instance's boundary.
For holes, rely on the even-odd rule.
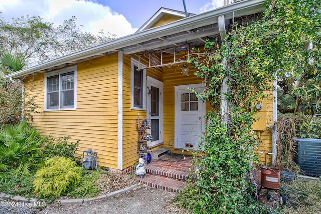
[[293,182],[281,182],[280,190],[286,196],[285,213],[314,214],[321,210],[320,181],[295,179]]

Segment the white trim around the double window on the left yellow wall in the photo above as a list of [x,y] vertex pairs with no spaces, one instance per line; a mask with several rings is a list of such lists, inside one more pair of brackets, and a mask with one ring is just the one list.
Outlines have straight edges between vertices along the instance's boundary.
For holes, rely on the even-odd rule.
[[[59,108],[58,109],[47,109],[47,82],[48,82],[48,77],[52,77],[55,75],[59,75],[59,74],[64,74],[64,73],[68,73],[68,72],[74,72],[74,78],[75,78],[75,82],[74,82],[74,108],[60,108],[60,98],[61,98],[61,81],[59,80]],[[44,106],[44,111],[66,111],[66,110],[76,110],[77,109],[77,66],[71,66],[68,68],[64,68],[58,71],[54,71],[54,72],[49,72],[45,74],[45,106]]]

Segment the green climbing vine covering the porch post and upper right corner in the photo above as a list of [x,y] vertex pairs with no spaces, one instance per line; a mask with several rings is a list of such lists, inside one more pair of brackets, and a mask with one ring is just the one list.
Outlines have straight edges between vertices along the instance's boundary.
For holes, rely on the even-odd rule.
[[[319,72],[320,9],[316,3],[267,1],[266,10],[255,21],[235,19],[225,42],[208,41],[204,51],[190,55],[195,75],[207,84],[197,96],[209,101],[212,110],[206,115],[202,156],[193,158],[194,178],[180,194],[183,207],[195,213],[264,212],[253,197],[256,189],[250,176],[257,162],[253,104],[273,89],[275,72],[279,76]],[[313,49],[303,49],[309,42]],[[221,92],[224,80],[227,93]],[[226,124],[220,112],[224,97]]]

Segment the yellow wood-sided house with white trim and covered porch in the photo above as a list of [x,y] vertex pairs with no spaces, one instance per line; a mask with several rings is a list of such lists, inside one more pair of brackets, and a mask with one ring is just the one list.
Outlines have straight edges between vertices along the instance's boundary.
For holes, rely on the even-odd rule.
[[[148,149],[181,153],[196,149],[205,128],[206,103],[188,88],[204,89],[186,62],[193,47],[222,36],[220,26],[264,10],[263,0],[248,0],[199,15],[160,9],[136,33],[15,72],[42,106],[33,125],[54,137],[71,135],[83,150],[98,152],[98,164],[123,171],[138,158],[138,119],[150,120]],[[188,68],[186,75],[182,68]],[[187,72],[187,71],[186,71]],[[185,74],[185,75],[183,75]],[[262,101],[254,124],[259,150],[271,151],[269,126],[275,119],[272,95]]]

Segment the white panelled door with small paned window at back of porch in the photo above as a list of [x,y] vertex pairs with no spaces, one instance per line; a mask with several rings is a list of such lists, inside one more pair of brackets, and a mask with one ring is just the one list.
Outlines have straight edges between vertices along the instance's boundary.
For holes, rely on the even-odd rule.
[[204,90],[203,84],[175,86],[175,148],[197,149],[205,131],[205,102],[190,89]]

